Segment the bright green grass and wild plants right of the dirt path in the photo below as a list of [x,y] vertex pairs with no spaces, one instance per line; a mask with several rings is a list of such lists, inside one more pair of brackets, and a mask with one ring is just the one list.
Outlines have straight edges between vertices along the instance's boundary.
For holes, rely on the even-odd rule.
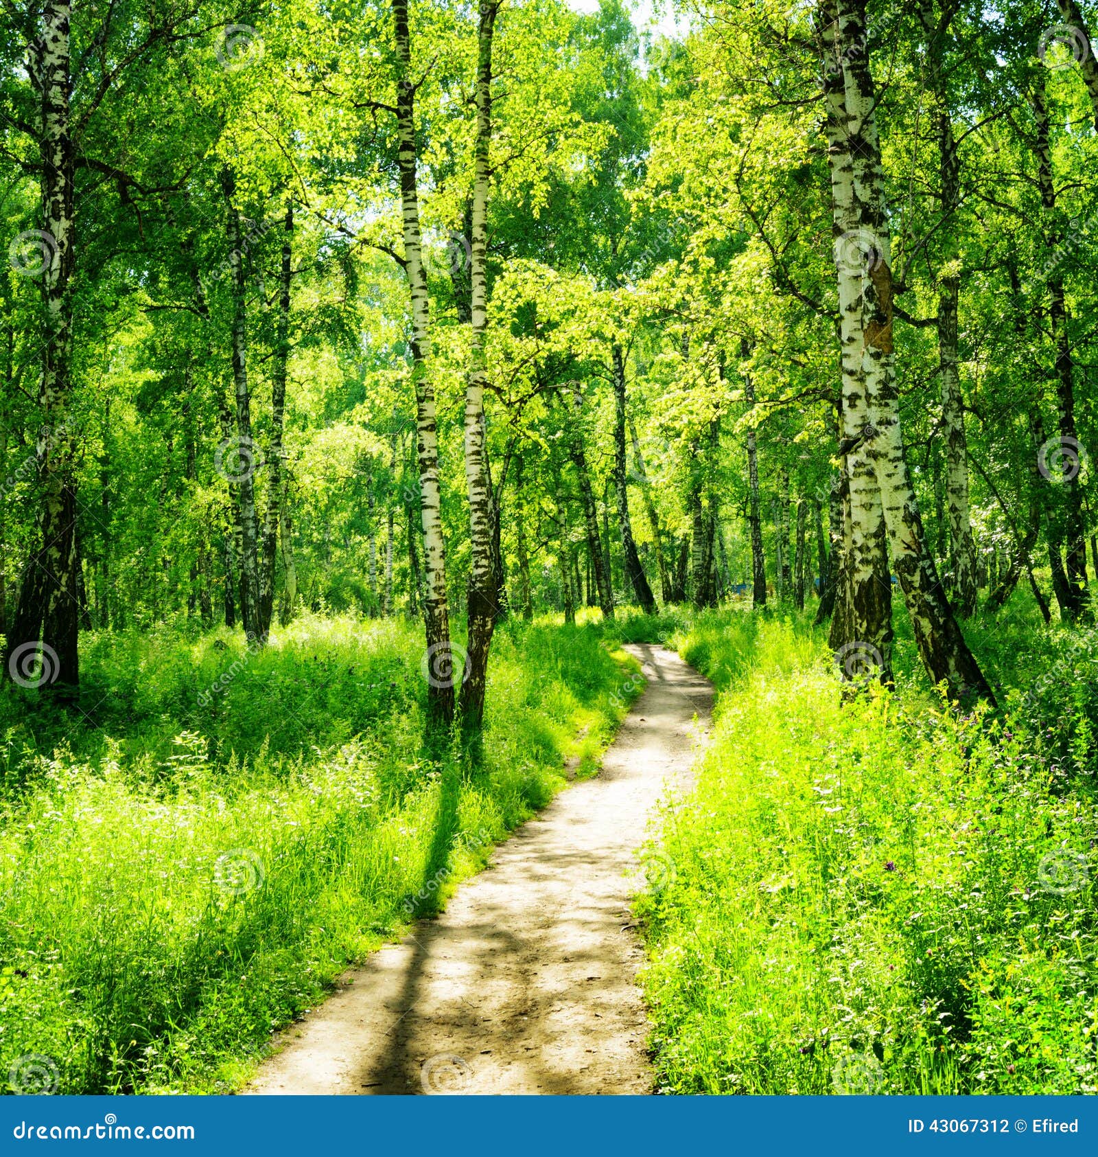
[[959,715],[910,662],[844,706],[795,617],[680,634],[720,694],[665,817],[674,876],[639,901],[666,1091],[1096,1091],[1093,636],[970,638],[1000,713]]

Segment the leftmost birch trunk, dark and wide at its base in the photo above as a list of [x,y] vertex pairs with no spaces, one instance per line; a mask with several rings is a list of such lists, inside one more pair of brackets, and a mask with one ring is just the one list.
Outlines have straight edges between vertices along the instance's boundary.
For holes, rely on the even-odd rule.
[[80,685],[80,619],[76,596],[76,472],[72,401],[73,297],[76,266],[75,154],[69,118],[69,0],[45,0],[40,35],[28,46],[28,72],[39,103],[42,165],[40,273],[42,373],[36,445],[39,493],[38,541],[20,583],[8,625],[5,672],[37,687],[52,685],[61,699]]

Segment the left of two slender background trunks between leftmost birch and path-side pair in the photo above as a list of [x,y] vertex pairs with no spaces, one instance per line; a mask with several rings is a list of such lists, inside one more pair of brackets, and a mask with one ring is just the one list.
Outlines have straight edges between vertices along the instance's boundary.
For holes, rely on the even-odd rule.
[[259,559],[258,521],[255,516],[255,482],[252,465],[254,443],[252,441],[251,393],[247,382],[247,315],[246,278],[244,271],[245,242],[240,228],[240,213],[233,200],[236,178],[225,165],[221,171],[221,187],[225,197],[229,218],[229,271],[232,281],[232,382],[236,390],[237,454],[240,470],[237,472],[237,493],[240,507],[240,620],[248,640],[262,638],[259,613]]

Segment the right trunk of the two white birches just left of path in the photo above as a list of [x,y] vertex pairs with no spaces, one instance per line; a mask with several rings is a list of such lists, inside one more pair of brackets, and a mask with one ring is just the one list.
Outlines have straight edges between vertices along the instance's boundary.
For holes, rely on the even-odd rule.
[[466,727],[478,728],[484,717],[488,688],[488,656],[496,626],[498,590],[492,567],[491,493],[485,469],[484,389],[488,368],[484,337],[488,329],[488,194],[492,137],[491,82],[492,37],[496,27],[496,0],[482,0],[477,25],[476,56],[476,140],[474,143],[472,251],[469,275],[473,287],[469,368],[465,385],[465,479],[469,496],[469,650],[465,681],[461,684],[461,718]]

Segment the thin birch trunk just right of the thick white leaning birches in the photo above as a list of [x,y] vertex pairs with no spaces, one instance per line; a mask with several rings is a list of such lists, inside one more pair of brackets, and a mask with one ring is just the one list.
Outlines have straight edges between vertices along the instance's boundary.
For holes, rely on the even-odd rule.
[[927,37],[927,74],[933,96],[937,130],[939,179],[942,186],[941,219],[937,227],[942,265],[939,272],[937,346],[942,390],[942,429],[945,436],[948,477],[949,553],[957,613],[971,616],[977,607],[975,545],[969,506],[969,456],[965,439],[964,398],[958,373],[958,268],[957,211],[960,207],[960,156],[954,137],[942,57],[949,37],[949,13],[936,19],[932,0],[922,0],[920,16]]

